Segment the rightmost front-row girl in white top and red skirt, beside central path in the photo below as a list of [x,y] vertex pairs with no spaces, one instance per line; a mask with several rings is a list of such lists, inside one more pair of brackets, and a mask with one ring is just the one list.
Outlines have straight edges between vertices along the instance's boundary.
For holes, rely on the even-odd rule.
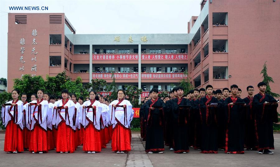
[[118,100],[109,105],[111,123],[113,124],[112,151],[125,153],[131,151],[130,121],[132,105],[125,100],[125,91],[118,90]]

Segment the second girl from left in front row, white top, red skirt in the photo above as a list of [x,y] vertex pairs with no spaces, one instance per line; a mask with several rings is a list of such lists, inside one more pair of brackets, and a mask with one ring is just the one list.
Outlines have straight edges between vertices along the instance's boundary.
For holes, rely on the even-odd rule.
[[32,153],[48,152],[47,142],[47,113],[49,103],[43,99],[44,90],[37,91],[37,100],[31,101],[28,105],[28,117],[31,120],[31,137],[29,151]]

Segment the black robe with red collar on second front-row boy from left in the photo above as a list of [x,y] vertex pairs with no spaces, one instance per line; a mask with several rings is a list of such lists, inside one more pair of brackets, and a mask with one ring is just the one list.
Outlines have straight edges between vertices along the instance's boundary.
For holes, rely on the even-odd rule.
[[183,97],[181,99],[176,98],[170,101],[168,106],[172,108],[174,152],[189,152],[187,123],[190,114],[190,100],[184,99]]

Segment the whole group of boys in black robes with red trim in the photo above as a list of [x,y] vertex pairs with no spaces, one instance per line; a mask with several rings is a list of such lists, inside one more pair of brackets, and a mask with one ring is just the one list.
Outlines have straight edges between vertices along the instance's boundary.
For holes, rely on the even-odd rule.
[[153,88],[140,108],[146,152],[163,153],[165,144],[175,153],[187,153],[190,147],[201,153],[216,154],[219,149],[244,154],[246,148],[273,154],[273,122],[278,122],[279,100],[265,93],[264,82],[257,87],[259,93],[254,95],[254,87],[248,86],[244,99],[237,85],[215,92],[207,85],[187,95],[178,86],[162,98]]

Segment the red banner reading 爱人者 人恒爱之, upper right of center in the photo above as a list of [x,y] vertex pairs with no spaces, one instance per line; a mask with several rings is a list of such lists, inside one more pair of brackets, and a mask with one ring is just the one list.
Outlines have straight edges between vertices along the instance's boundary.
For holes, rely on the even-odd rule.
[[187,54],[141,54],[141,60],[187,60]]

